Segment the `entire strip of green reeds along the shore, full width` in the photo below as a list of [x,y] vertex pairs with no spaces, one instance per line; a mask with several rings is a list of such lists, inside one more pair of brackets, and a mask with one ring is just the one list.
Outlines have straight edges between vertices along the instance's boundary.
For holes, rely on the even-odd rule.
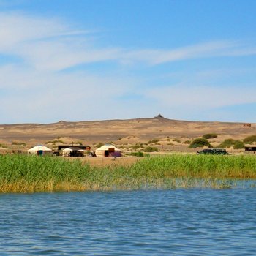
[[1,192],[227,188],[255,178],[255,156],[173,154],[105,167],[59,157],[0,156]]

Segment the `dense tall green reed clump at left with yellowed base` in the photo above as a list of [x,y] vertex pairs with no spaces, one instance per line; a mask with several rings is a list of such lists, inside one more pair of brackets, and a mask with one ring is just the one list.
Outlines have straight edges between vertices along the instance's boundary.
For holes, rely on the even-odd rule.
[[56,157],[0,156],[1,192],[80,190],[89,165]]

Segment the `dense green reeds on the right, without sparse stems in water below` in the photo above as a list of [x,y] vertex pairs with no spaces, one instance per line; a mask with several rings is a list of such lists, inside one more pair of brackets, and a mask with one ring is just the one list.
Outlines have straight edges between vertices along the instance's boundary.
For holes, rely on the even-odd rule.
[[256,157],[173,154],[145,158],[131,169],[137,176],[162,178],[256,178]]

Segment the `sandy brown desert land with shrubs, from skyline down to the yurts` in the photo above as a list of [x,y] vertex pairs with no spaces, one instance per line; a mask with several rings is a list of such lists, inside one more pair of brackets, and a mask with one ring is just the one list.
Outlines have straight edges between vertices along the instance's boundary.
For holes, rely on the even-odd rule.
[[[26,151],[37,144],[56,148],[59,144],[80,143],[94,150],[99,143],[113,143],[123,151],[135,150],[135,145],[155,146],[159,151],[195,151],[189,142],[207,133],[216,133],[209,141],[218,146],[223,140],[243,140],[256,135],[256,124],[217,121],[177,121],[157,116],[109,121],[59,121],[53,124],[1,124],[1,150]],[[138,150],[138,147],[136,148]],[[232,148],[231,148],[232,150]]]

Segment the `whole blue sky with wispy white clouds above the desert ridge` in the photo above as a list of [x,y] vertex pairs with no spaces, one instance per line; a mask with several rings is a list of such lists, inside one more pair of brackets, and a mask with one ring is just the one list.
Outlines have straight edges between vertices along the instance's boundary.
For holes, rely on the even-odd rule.
[[256,122],[254,0],[0,0],[0,123]]

